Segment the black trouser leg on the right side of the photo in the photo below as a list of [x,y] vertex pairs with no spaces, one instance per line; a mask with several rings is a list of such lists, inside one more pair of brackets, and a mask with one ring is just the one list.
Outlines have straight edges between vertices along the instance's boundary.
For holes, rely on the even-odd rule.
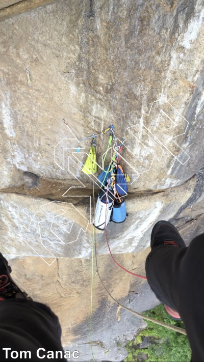
[[146,276],[157,298],[183,319],[192,361],[204,361],[204,234],[189,247],[153,248],[146,259]]

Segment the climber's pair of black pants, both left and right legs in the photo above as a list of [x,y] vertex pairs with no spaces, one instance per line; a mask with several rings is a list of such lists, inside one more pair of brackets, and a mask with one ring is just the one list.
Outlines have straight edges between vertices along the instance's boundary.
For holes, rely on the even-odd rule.
[[[189,247],[156,247],[146,259],[146,275],[151,289],[163,303],[179,312],[192,349],[192,360],[204,361],[204,234]],[[8,350],[8,358],[3,348]],[[16,361],[20,351],[30,351],[32,361],[66,360],[47,358],[47,351],[63,351],[58,318],[46,305],[24,299],[0,302],[0,361]],[[29,355],[27,355],[27,360]]]

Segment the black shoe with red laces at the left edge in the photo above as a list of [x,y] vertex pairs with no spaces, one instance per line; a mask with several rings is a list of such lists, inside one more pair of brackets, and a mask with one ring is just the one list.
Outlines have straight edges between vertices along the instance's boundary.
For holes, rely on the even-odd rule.
[[32,300],[26,293],[22,292],[11,279],[11,267],[8,261],[0,253],[0,302],[5,299],[23,298]]

